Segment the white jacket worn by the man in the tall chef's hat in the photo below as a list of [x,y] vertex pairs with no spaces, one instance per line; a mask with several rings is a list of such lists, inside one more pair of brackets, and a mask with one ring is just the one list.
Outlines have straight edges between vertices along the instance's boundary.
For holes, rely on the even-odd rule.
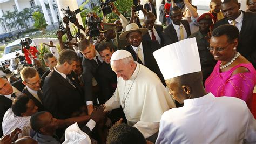
[[256,123],[246,103],[234,97],[184,100],[162,115],[156,143],[256,142]]

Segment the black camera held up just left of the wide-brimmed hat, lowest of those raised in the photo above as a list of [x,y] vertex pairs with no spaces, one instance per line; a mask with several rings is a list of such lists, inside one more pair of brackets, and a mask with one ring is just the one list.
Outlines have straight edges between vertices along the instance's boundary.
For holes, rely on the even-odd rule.
[[89,36],[99,36],[99,28],[101,22],[102,20],[94,12],[91,12],[86,16],[86,24],[89,28]]

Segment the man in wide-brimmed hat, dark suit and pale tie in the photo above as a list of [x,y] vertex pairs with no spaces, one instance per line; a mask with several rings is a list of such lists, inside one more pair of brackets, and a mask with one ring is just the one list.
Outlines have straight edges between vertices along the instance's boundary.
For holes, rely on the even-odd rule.
[[157,41],[142,40],[142,36],[147,32],[147,28],[139,28],[137,24],[131,23],[126,26],[126,31],[123,32],[119,38],[126,39],[130,44],[125,50],[132,54],[133,59],[156,73],[162,83],[166,86],[164,77],[153,56],[153,52],[160,49],[161,45]]

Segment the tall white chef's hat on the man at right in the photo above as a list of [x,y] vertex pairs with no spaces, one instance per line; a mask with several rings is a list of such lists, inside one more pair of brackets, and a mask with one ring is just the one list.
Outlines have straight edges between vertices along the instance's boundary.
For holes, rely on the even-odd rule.
[[196,38],[167,45],[153,55],[165,80],[201,71]]

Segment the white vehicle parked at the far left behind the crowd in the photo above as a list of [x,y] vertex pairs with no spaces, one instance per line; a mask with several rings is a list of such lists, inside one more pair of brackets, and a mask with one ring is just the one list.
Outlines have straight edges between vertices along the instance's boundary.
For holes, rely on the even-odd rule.
[[[33,42],[32,39],[30,39],[29,37],[25,37],[25,38],[21,38],[22,40],[27,40],[29,42],[30,46],[36,46],[36,43]],[[16,54],[19,52],[19,54],[21,54],[22,56],[24,56],[24,54],[22,53],[21,49],[22,49],[22,45],[19,44],[21,42],[21,39],[17,39],[14,42],[8,44],[5,48],[4,48],[4,53],[3,53],[3,57],[0,58],[0,70],[2,70],[4,73],[9,72],[9,65],[10,65],[10,60],[16,58]]]

